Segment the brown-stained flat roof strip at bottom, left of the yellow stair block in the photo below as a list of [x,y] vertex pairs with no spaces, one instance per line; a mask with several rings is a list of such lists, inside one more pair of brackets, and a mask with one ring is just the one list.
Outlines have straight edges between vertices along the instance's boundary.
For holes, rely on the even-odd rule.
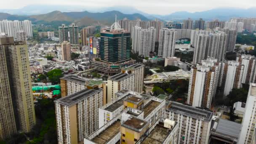
[[106,130],[102,131],[98,136],[94,137],[91,141],[96,144],[105,144],[107,141],[112,139],[120,131],[120,120],[118,119],[115,123],[109,126]]

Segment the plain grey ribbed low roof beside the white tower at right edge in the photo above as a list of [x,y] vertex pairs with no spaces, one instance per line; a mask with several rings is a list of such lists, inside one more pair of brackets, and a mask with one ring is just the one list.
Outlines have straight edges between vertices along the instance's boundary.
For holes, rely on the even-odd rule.
[[219,119],[216,133],[220,133],[226,136],[232,136],[238,139],[240,133],[241,124],[232,122],[230,120]]

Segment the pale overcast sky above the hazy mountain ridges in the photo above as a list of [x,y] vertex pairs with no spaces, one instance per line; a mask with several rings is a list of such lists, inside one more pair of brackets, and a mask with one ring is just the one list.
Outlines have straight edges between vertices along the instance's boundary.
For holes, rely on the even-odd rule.
[[93,7],[132,6],[150,14],[169,14],[176,11],[205,11],[219,7],[256,7],[256,0],[0,0],[1,9],[21,8],[32,4],[84,5]]

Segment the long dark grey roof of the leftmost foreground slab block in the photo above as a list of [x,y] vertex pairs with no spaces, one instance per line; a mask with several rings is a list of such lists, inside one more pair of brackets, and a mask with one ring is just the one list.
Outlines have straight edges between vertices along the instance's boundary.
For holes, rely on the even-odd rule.
[[55,102],[58,102],[60,104],[63,104],[65,106],[72,106],[74,104],[77,104],[80,100],[85,99],[88,96],[93,95],[94,93],[98,93],[101,91],[101,88],[96,89],[84,89],[82,91],[79,91],[77,93],[73,93],[69,96],[65,96],[64,98],[57,99]]

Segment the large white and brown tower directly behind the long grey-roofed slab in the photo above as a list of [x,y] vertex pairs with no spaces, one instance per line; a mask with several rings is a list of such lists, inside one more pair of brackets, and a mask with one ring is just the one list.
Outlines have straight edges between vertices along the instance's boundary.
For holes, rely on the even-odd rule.
[[192,67],[187,104],[193,107],[211,107],[221,72],[221,67],[216,63],[217,59],[208,58],[202,60],[202,64],[197,64],[197,67]]

